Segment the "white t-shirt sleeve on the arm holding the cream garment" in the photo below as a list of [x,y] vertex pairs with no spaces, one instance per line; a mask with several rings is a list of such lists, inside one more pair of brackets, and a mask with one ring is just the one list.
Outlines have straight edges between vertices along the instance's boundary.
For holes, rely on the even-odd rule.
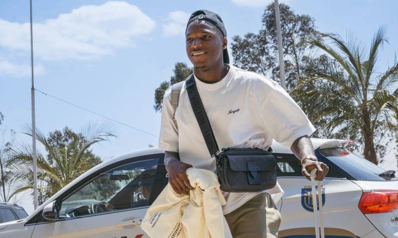
[[170,101],[171,88],[165,91],[162,102],[162,121],[160,125],[159,148],[178,152],[178,129],[174,123],[174,109]]

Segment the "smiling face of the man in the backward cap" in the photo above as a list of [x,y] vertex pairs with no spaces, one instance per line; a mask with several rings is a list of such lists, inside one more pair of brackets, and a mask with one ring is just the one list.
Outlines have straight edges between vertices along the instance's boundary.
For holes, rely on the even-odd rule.
[[193,21],[187,28],[187,55],[195,68],[208,68],[222,62],[227,40],[221,31],[208,21]]

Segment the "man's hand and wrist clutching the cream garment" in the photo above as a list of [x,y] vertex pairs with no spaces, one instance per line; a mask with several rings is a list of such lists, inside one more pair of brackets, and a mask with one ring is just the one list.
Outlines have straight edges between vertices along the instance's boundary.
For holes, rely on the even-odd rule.
[[176,193],[189,195],[190,190],[194,189],[194,187],[191,186],[186,171],[192,165],[181,162],[177,158],[178,153],[165,152],[165,166],[169,176],[169,183]]

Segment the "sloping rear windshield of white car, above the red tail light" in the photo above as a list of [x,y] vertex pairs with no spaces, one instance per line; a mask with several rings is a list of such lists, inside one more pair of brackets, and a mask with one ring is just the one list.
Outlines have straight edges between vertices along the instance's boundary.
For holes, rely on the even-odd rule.
[[320,153],[331,162],[358,180],[398,180],[397,178],[380,176],[386,170],[344,148],[321,149]]

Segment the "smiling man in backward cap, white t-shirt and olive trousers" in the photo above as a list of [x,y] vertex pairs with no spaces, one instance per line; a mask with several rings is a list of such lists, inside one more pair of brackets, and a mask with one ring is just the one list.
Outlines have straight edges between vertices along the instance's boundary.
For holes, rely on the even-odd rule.
[[[219,145],[268,149],[275,139],[291,148],[309,179],[317,169],[322,180],[328,167],[317,162],[308,135],[315,131],[293,99],[276,82],[229,64],[226,30],[221,17],[208,10],[195,11],[186,28],[186,50],[194,64],[200,98]],[[193,187],[186,176],[190,167],[215,172],[215,160],[207,150],[199,124],[183,84],[175,112],[165,92],[159,147],[165,150],[169,183],[178,194]],[[282,192],[279,184],[262,192],[223,192],[223,206],[234,238],[278,236],[281,222],[270,194]]]

